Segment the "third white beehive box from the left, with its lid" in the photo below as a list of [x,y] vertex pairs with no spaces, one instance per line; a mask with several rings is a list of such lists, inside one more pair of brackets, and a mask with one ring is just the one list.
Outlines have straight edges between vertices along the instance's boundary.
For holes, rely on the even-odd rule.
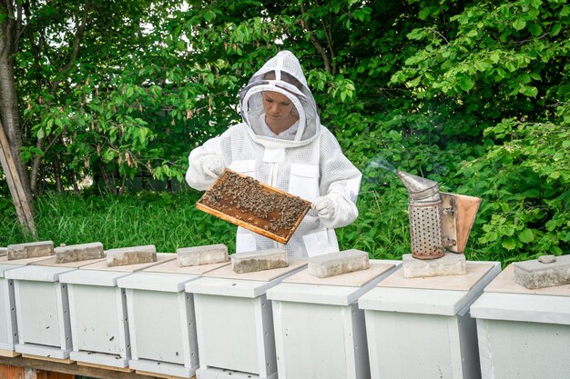
[[[61,275],[67,284],[73,349],[77,364],[125,369],[130,359],[127,296],[117,280],[128,274],[175,259],[157,254],[157,262],[108,267],[105,259]],[[128,370],[128,369],[127,369]]]

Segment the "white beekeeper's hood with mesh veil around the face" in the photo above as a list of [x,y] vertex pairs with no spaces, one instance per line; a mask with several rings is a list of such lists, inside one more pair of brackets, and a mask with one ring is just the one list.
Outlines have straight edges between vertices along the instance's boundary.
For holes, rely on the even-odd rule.
[[[295,134],[268,137],[261,133],[265,122],[263,91],[279,92],[289,97],[299,113],[299,127]],[[239,94],[239,106],[251,137],[262,145],[305,145],[321,132],[321,120],[307,79],[297,57],[287,50],[272,57],[251,76],[249,84]]]

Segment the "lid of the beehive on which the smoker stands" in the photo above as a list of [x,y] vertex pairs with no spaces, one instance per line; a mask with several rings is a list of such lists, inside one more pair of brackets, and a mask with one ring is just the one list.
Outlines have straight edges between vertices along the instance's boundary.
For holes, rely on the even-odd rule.
[[397,270],[359,299],[361,309],[455,315],[501,272],[499,262],[467,262],[467,274],[404,278]]

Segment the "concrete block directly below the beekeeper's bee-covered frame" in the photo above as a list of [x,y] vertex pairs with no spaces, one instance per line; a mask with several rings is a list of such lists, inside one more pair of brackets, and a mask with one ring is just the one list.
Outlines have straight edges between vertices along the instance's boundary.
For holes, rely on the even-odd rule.
[[285,250],[278,248],[231,255],[231,268],[237,274],[287,266],[289,266],[289,256]]

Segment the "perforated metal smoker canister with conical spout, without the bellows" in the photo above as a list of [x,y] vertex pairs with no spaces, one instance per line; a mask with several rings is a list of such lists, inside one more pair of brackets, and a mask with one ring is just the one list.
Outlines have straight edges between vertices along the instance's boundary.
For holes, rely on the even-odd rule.
[[445,254],[442,236],[442,199],[437,182],[398,171],[408,189],[412,256],[435,259]]

